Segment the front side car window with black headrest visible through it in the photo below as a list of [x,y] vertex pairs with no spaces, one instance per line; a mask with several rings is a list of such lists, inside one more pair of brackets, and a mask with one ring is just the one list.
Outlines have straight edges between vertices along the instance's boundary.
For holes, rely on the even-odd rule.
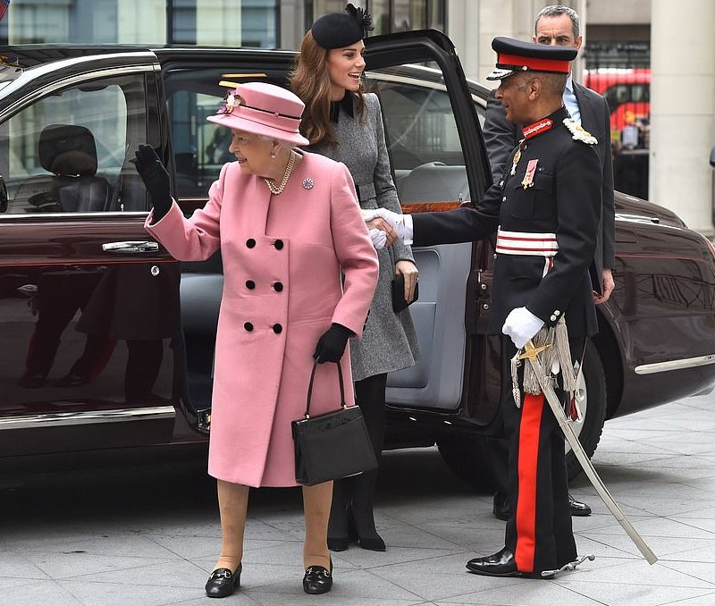
[[[55,90],[0,125],[6,214],[145,210],[128,153],[147,137],[143,76]],[[130,169],[130,170],[129,170]]]

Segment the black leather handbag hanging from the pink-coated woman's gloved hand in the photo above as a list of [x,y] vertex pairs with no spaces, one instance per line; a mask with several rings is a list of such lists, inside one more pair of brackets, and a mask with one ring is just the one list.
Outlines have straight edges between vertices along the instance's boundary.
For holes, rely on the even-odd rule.
[[310,399],[317,363],[313,363],[307,386],[306,412],[293,421],[296,482],[312,486],[341,477],[356,476],[377,467],[373,444],[358,406],[345,403],[342,370],[338,363],[341,408],[317,417],[310,416]]

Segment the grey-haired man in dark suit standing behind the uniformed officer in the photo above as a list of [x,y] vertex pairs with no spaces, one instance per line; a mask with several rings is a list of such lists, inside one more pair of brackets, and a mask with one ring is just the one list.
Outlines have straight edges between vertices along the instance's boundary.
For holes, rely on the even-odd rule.
[[[573,46],[581,48],[583,38],[580,35],[578,14],[568,6],[546,6],[536,15],[532,41],[550,46]],[[583,128],[598,139],[594,146],[601,159],[602,187],[601,229],[596,245],[593,265],[593,300],[601,304],[607,301],[613,290],[612,269],[615,265],[614,201],[613,201],[613,163],[610,154],[610,110],[606,100],[590,88],[574,82],[569,74],[564,89],[563,101],[568,114]],[[522,137],[521,126],[507,121],[504,106],[494,97],[489,96],[484,122],[484,142],[489,153],[494,181],[500,181],[504,172],[507,156],[518,145]],[[487,450],[487,465],[492,469],[492,478],[497,487],[494,494],[493,511],[500,519],[509,518],[509,500],[504,480],[507,449],[503,441],[490,441]],[[571,515],[589,516],[591,508],[569,495]]]

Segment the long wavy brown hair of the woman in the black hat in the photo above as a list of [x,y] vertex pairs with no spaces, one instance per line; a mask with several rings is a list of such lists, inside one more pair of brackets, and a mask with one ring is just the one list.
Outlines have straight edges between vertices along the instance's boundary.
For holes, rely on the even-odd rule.
[[[300,55],[296,58],[288,80],[290,89],[306,104],[300,132],[310,141],[311,146],[324,143],[337,145],[335,131],[330,122],[331,80],[326,66],[327,49],[315,42],[308,30],[300,43]],[[362,83],[357,92],[357,114],[365,112]],[[352,94],[352,93],[348,93]]]

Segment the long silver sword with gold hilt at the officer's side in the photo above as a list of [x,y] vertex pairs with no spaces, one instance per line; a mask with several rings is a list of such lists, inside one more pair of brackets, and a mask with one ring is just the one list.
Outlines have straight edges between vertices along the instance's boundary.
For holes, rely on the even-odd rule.
[[566,441],[571,446],[571,450],[574,451],[576,459],[578,459],[578,462],[581,464],[585,475],[591,481],[591,484],[593,484],[593,488],[596,489],[596,492],[598,492],[598,495],[601,497],[601,501],[606,504],[606,507],[609,508],[613,516],[618,520],[618,524],[623,527],[630,540],[635,543],[635,546],[638,548],[638,551],[643,554],[645,560],[648,560],[649,564],[655,564],[655,562],[658,561],[657,556],[655,555],[655,553],[653,553],[652,549],[645,543],[644,538],[640,534],[638,534],[637,530],[635,530],[635,527],[626,517],[626,514],[623,513],[623,509],[620,509],[618,503],[613,500],[612,496],[610,496],[609,489],[606,488],[606,484],[603,484],[601,476],[599,476],[596,470],[593,468],[593,463],[591,462],[591,459],[586,456],[584,447],[581,446],[581,442],[578,442],[576,433],[574,433],[573,428],[568,423],[566,414],[564,413],[564,409],[561,407],[559,397],[556,395],[556,391],[554,391],[553,386],[551,385],[551,380],[548,376],[546,376],[546,373],[544,373],[541,362],[537,358],[537,356],[541,351],[543,351],[543,349],[543,347],[534,347],[534,343],[532,343],[532,341],[529,341],[528,343],[526,343],[524,353],[521,353],[521,350],[519,350],[517,351],[517,355],[514,358],[529,360],[529,363],[531,364],[532,368],[534,368],[534,375],[536,375],[539,385],[541,386],[543,395],[549,402],[549,407],[551,408],[553,416],[556,417],[556,420],[559,423],[559,427],[564,433]]

